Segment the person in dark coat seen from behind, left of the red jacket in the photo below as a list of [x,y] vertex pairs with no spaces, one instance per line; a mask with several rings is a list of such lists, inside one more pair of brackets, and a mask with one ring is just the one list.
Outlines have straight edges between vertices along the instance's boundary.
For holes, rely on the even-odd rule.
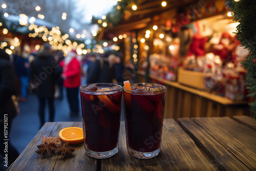
[[44,50],[36,54],[31,63],[30,80],[36,86],[39,101],[39,118],[41,126],[45,124],[45,105],[48,100],[50,122],[54,120],[55,80],[61,74],[61,68],[51,53],[51,46],[44,44]]

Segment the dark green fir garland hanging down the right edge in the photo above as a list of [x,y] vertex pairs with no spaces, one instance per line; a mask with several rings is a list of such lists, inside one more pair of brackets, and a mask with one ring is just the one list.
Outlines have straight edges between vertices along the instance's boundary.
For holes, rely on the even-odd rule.
[[250,55],[242,62],[247,70],[246,89],[252,102],[250,112],[256,116],[256,1],[255,0],[227,0],[226,6],[233,12],[237,26],[237,39],[241,45],[250,50]]

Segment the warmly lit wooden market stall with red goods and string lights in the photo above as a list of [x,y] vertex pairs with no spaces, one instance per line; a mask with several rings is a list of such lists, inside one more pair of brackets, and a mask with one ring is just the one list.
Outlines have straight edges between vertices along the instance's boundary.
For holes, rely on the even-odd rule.
[[124,61],[134,63],[133,81],[167,87],[166,118],[248,115],[241,61],[249,51],[233,33],[238,23],[225,1],[153,4],[127,9],[123,22],[104,30],[108,38],[128,35],[117,42],[124,45]]

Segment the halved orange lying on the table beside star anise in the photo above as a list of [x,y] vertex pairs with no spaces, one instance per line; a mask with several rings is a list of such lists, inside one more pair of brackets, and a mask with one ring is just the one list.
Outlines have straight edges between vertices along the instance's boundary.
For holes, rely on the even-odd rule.
[[83,132],[81,127],[65,127],[59,131],[59,139],[69,144],[79,144],[83,142]]

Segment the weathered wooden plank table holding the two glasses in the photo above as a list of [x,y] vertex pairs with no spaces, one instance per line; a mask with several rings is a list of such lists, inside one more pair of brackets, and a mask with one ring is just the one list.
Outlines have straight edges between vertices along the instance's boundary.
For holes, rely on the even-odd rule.
[[247,116],[165,119],[160,154],[137,159],[126,149],[121,122],[119,152],[108,159],[87,156],[83,143],[73,145],[75,156],[40,156],[42,136],[58,136],[81,122],[47,122],[9,167],[9,170],[256,170],[256,120]]

